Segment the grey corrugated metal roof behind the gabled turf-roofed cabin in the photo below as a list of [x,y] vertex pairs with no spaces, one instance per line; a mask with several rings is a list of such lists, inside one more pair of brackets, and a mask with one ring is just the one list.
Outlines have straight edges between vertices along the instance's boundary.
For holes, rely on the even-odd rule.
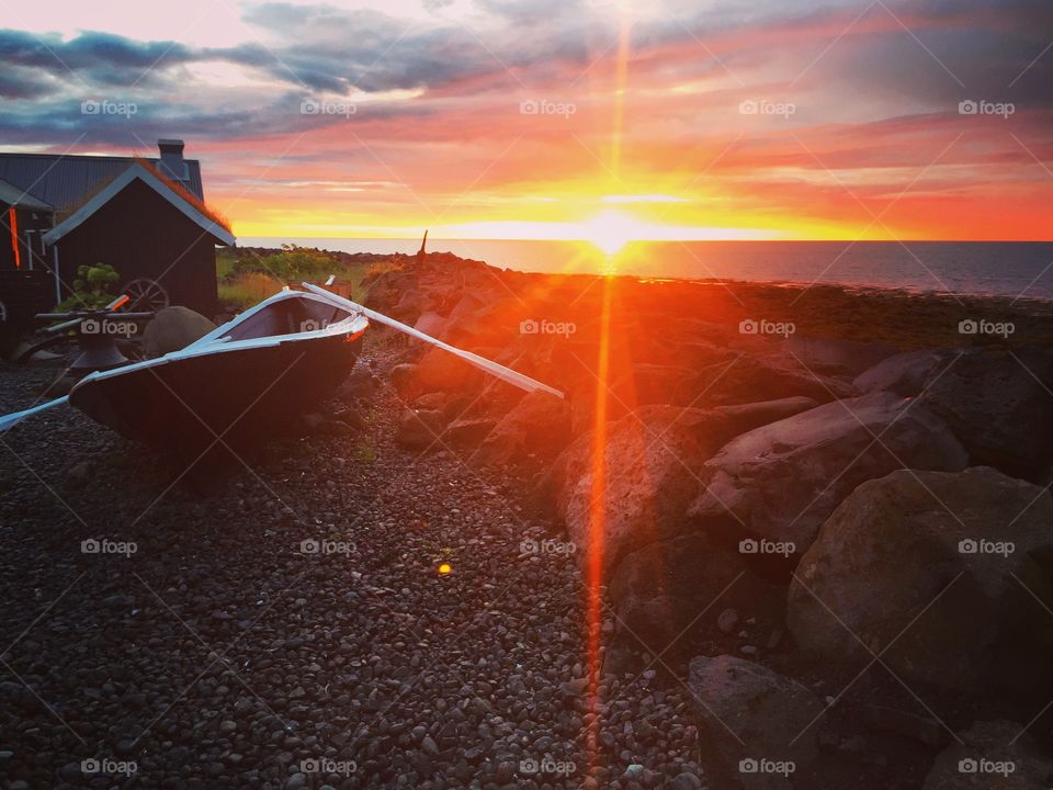
[[[155,166],[156,158],[146,158]],[[111,156],[61,156],[58,154],[3,154],[0,153],[0,179],[27,192],[58,211],[80,202],[84,195],[95,192],[101,184],[127,170],[133,157]],[[185,185],[194,195],[204,200],[201,184],[201,163],[186,160],[189,180]]]

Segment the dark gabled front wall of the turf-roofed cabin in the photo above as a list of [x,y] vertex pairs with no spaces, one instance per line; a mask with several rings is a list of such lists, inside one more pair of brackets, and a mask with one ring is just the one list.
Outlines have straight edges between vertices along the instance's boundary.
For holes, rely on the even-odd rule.
[[217,306],[212,237],[141,181],[132,181],[57,242],[64,290],[81,266],[109,263],[121,284],[157,280],[172,304],[208,316]]

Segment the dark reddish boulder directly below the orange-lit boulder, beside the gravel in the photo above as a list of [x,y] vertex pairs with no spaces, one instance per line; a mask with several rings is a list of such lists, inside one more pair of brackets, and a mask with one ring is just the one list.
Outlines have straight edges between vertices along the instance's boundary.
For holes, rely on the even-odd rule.
[[728,609],[749,612],[758,629],[781,629],[785,587],[755,575],[748,558],[701,533],[626,554],[609,585],[618,614],[614,641],[672,666],[714,642],[735,648],[736,636],[717,625]]

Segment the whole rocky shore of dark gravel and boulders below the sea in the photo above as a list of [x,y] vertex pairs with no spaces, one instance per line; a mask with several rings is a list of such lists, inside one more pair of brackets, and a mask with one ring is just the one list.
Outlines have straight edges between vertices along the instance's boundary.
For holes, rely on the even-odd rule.
[[208,497],[76,413],[5,435],[4,787],[1045,787],[1048,305],[367,285],[568,397],[374,327]]

